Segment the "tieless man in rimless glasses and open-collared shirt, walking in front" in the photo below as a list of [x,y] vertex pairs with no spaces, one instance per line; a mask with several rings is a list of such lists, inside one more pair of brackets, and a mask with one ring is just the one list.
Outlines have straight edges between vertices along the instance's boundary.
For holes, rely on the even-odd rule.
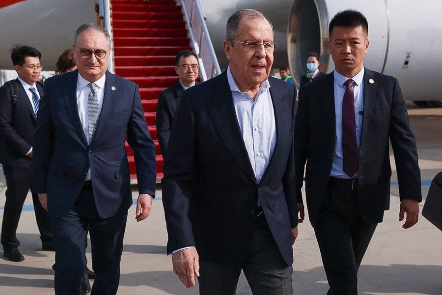
[[296,91],[269,77],[276,43],[254,9],[227,22],[220,76],[181,95],[162,181],[173,270],[199,292],[293,294]]

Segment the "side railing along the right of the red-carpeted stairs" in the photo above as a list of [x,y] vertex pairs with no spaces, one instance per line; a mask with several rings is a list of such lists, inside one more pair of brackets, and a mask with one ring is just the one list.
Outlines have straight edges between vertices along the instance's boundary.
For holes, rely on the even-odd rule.
[[206,18],[199,0],[180,0],[189,28],[193,50],[199,59],[200,75],[203,81],[221,74],[220,64],[213,48],[206,26]]

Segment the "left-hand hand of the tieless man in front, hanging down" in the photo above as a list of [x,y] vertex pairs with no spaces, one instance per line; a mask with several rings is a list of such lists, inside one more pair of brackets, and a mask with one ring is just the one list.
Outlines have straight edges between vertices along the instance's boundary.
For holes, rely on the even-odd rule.
[[195,278],[199,277],[199,256],[195,248],[186,248],[172,254],[173,272],[186,288],[195,287]]

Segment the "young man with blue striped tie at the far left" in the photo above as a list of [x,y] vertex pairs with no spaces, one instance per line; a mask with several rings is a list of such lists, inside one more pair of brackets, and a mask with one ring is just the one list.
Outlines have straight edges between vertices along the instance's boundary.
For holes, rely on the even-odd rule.
[[[14,47],[11,59],[19,77],[0,88],[0,162],[7,186],[1,244],[3,255],[14,262],[25,259],[18,250],[20,242],[16,232],[32,182],[33,134],[43,98],[43,88],[36,83],[42,69],[40,58],[41,53],[33,47]],[[12,97],[14,88],[16,97]],[[54,250],[49,214],[35,193],[32,193],[32,202],[43,250]]]

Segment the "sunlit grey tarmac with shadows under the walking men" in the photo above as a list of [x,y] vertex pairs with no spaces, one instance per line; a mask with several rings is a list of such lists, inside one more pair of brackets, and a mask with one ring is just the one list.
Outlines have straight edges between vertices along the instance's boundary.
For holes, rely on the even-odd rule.
[[[442,171],[442,109],[408,106],[422,174],[422,208],[430,180]],[[413,228],[402,229],[403,222],[398,221],[395,171],[391,183],[390,210],[386,211],[384,222],[378,225],[359,269],[359,294],[442,295],[442,232],[423,217]],[[135,199],[138,193],[136,187],[133,189]],[[2,175],[0,190],[0,206],[3,206],[6,188]],[[118,294],[198,294],[197,288],[188,290],[181,284],[172,271],[171,256],[166,256],[167,233],[161,197],[158,188],[151,215],[144,221],[136,222],[135,206],[129,210]],[[55,255],[54,252],[41,251],[31,204],[32,198],[28,196],[17,231],[25,260],[13,263],[0,258],[0,295],[54,294],[54,271],[51,267]],[[0,207],[0,219],[2,217],[3,207]],[[325,295],[328,285],[319,248],[308,216],[305,219],[299,226],[299,236],[294,245],[295,294]],[[91,268],[90,248],[87,249],[87,257]],[[250,294],[249,285],[242,275],[237,295]]]

